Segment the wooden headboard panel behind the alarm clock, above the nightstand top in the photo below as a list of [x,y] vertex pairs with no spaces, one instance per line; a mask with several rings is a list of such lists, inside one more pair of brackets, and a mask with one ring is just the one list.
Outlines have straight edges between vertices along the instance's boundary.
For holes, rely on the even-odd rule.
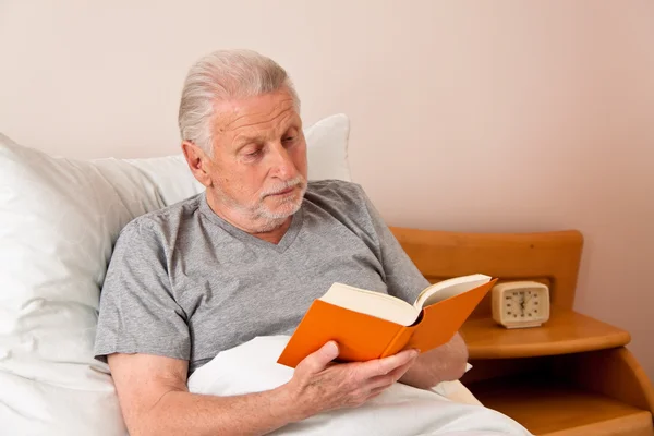
[[[577,230],[540,233],[458,233],[390,228],[431,282],[481,272],[508,280],[535,280],[549,287],[553,305],[571,310],[583,237]],[[491,294],[473,317],[491,314]]]

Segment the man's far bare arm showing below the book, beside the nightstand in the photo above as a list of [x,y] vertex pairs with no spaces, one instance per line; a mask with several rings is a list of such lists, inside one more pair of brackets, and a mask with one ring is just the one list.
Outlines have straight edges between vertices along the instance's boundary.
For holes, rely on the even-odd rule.
[[460,334],[444,346],[422,353],[400,378],[400,383],[429,389],[440,382],[461,378],[468,363],[468,347]]

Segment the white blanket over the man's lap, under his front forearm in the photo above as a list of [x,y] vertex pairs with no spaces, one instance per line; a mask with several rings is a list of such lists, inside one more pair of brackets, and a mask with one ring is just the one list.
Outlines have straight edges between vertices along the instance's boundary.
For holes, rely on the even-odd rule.
[[[258,337],[219,353],[189,378],[195,393],[234,396],[276,388],[293,370],[276,363],[289,337]],[[355,409],[322,413],[275,435],[531,435],[513,420],[483,405],[451,401],[433,390],[395,384]]]

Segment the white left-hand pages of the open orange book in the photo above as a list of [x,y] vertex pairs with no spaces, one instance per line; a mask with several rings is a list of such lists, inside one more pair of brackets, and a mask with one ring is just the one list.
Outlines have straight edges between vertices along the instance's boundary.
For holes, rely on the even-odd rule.
[[334,283],[319,300],[402,326],[412,325],[420,315],[419,310],[398,298],[342,283]]

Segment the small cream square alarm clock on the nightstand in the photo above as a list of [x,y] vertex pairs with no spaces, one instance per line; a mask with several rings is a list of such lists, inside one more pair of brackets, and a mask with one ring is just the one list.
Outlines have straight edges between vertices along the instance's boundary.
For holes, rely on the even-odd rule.
[[549,319],[549,288],[537,281],[493,287],[493,319],[506,328],[538,327]]

